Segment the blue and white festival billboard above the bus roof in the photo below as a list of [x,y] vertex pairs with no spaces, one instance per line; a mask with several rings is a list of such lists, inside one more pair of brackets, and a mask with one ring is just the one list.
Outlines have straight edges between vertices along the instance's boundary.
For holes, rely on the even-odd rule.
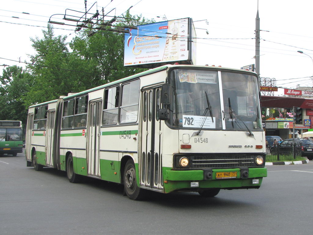
[[126,29],[124,66],[154,68],[195,64],[195,30],[191,18],[176,19]]

